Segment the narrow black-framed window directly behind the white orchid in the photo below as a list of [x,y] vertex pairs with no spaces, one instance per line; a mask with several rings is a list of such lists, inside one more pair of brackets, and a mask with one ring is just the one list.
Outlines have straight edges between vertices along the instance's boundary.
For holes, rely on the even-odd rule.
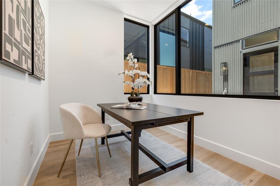
[[[127,53],[133,53],[134,58],[137,59],[138,68],[141,71],[149,73],[149,26],[136,23],[125,19],[124,21],[124,70],[131,70],[128,61],[126,60]],[[136,77],[138,78],[138,77]],[[130,77],[124,76],[124,81],[130,81]],[[140,93],[149,93],[149,89],[144,87],[140,89]],[[124,93],[130,93],[131,87],[124,85]]]

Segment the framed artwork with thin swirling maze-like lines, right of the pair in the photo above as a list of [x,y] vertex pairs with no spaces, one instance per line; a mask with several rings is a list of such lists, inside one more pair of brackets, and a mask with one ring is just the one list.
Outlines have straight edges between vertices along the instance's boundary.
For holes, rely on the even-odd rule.
[[45,80],[45,18],[38,0],[32,1],[32,73],[31,76]]

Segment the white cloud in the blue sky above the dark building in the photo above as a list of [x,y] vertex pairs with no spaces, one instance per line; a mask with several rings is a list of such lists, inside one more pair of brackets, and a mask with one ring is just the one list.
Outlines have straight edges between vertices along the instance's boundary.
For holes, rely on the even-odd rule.
[[195,4],[195,2],[196,0],[192,0],[189,4],[183,7],[181,11],[201,21],[204,21],[207,18],[212,17],[212,10],[202,11],[200,9],[203,7],[203,5],[198,6],[197,4]]

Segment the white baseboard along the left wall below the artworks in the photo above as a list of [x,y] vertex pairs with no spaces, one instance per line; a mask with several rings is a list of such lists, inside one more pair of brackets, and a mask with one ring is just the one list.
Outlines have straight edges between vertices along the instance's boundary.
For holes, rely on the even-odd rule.
[[41,150],[40,150],[40,152],[39,152],[39,154],[38,154],[38,156],[37,156],[37,158],[36,158],[32,168],[31,168],[31,170],[29,172],[29,175],[28,175],[27,179],[25,180],[24,186],[33,185],[33,182],[34,182],[34,180],[36,178],[38,170],[39,170],[39,168],[41,166],[41,163],[42,163],[42,161],[44,159],[44,156],[45,156],[45,153],[47,151],[49,143],[50,143],[50,135],[48,135],[45,143],[43,144],[43,147],[41,148]]

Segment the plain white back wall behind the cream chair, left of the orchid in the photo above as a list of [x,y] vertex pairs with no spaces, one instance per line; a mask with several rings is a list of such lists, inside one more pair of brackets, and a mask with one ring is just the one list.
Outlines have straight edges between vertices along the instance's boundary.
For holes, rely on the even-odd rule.
[[49,120],[51,140],[57,140],[63,139],[59,105],[84,103],[100,113],[98,103],[127,101],[117,75],[123,70],[124,15],[89,1],[50,1],[50,12]]

